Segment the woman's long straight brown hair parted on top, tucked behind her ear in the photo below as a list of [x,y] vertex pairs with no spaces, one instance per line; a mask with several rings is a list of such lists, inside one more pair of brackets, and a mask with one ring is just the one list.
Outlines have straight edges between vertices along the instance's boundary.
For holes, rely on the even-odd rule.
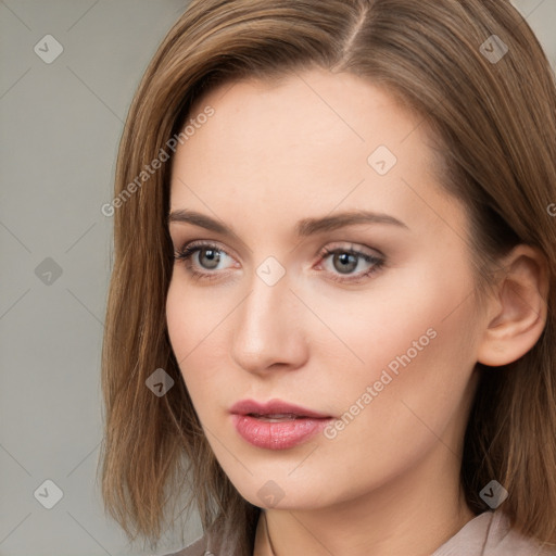
[[[433,131],[443,187],[472,223],[478,291],[511,247],[527,243],[546,256],[545,329],[520,359],[481,369],[460,479],[476,514],[489,509],[479,492],[496,479],[509,493],[501,508],[513,527],[556,542],[556,219],[548,208],[556,203],[556,85],[507,0],[190,3],[144,73],[118,153],[102,355],[105,508],[128,538],[156,544],[168,500],[190,492],[205,529],[233,522],[242,554],[252,547],[258,508],[216,462],[168,340],[170,162],[148,179],[141,173],[163,151],[170,157],[172,138],[185,140],[191,108],[211,88],[313,66],[368,77]],[[175,382],[162,396],[146,386],[159,368]]]

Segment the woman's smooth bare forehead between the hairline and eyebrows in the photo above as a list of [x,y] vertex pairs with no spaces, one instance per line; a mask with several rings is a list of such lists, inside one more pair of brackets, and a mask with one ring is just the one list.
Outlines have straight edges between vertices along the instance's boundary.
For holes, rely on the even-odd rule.
[[365,207],[410,222],[416,190],[446,201],[422,118],[367,79],[315,70],[236,81],[198,99],[188,122],[207,106],[174,157],[172,208],[256,218],[251,208],[269,224],[270,212]]

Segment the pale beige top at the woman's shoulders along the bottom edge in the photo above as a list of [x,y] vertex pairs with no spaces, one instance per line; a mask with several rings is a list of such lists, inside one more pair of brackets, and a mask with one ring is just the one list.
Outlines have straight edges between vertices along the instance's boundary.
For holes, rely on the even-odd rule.
[[[222,544],[222,539],[204,535],[165,556],[237,556],[220,552]],[[541,546],[510,529],[507,517],[498,509],[476,516],[431,556],[556,556],[556,546]]]

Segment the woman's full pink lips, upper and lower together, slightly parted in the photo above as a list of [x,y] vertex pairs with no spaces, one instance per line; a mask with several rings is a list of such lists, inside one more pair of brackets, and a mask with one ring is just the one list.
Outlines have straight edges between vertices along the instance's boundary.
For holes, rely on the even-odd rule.
[[321,431],[331,416],[281,400],[258,403],[242,400],[231,409],[238,433],[250,444],[267,450],[286,450]]

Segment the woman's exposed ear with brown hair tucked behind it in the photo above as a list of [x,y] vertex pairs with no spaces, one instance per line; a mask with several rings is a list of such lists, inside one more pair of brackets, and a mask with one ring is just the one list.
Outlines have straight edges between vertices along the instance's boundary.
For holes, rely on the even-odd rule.
[[536,248],[520,244],[502,261],[502,279],[489,300],[478,362],[497,367],[530,351],[546,325],[548,265]]

